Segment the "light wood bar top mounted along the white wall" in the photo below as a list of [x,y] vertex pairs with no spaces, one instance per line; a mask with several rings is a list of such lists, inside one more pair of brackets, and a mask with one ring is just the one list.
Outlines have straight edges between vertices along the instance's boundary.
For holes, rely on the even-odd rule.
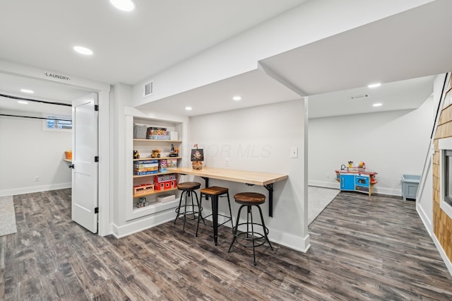
[[202,170],[194,170],[192,167],[177,167],[171,170],[178,174],[196,175],[198,177],[208,177],[211,179],[224,179],[226,181],[240,182],[265,186],[272,184],[289,176],[274,174],[270,172],[250,172],[246,170],[231,170],[230,168],[203,167]]

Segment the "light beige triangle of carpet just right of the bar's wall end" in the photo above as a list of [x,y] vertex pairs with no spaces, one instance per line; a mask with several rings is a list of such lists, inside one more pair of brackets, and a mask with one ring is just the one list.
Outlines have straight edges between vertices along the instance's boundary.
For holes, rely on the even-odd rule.
[[308,225],[339,194],[339,189],[308,186]]

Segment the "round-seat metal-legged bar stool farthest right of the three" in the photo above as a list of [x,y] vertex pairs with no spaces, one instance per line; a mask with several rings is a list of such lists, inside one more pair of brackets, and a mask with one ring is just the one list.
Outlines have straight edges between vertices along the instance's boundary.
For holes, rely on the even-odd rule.
[[[262,210],[261,210],[261,203],[266,202],[266,196],[263,194],[258,194],[255,192],[242,192],[239,194],[234,195],[234,199],[236,203],[239,203],[239,213],[237,214],[237,220],[235,223],[235,227],[232,228],[232,234],[234,235],[234,238],[232,239],[231,245],[227,252],[231,252],[232,245],[234,242],[242,245],[243,247],[247,248],[253,248],[253,259],[254,259],[254,265],[256,266],[256,252],[255,248],[259,247],[266,242],[270,245],[270,249],[273,250],[273,247],[270,244],[270,240],[268,240],[268,228],[266,227],[265,223],[263,222],[263,216],[262,216]],[[242,208],[246,206],[247,209],[247,215],[246,215],[246,223],[239,223],[240,219],[240,212],[242,211]],[[261,214],[261,223],[254,223],[253,221],[253,214],[251,211],[252,206],[256,206],[259,210],[259,213]],[[251,222],[250,222],[251,217]],[[246,225],[246,232],[238,232],[240,225]],[[258,226],[258,228],[262,229],[262,232],[256,232],[254,231],[254,226]],[[250,229],[251,228],[251,231]]]

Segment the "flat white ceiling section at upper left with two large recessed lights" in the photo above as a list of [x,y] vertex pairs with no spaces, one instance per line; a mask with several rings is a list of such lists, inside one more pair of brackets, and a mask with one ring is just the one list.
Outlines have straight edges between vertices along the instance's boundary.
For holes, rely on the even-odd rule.
[[109,0],[0,0],[0,58],[133,85],[306,0],[134,1],[127,13]]

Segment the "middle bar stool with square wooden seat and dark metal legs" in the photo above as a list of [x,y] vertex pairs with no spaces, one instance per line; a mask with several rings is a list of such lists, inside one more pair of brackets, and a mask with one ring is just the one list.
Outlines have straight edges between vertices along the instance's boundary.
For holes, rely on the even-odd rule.
[[[212,198],[212,214],[210,214],[209,216],[212,216],[213,220],[213,241],[215,242],[216,246],[218,242],[218,227],[220,227],[220,225],[218,225],[218,216],[223,216],[227,218],[227,220],[221,225],[225,225],[225,223],[231,221],[231,226],[232,228],[234,228],[234,223],[232,223],[232,211],[231,211],[231,201],[229,199],[229,189],[225,187],[212,186],[203,188],[200,190],[200,192],[201,192],[201,202],[200,202],[201,206],[203,203],[203,196],[205,196],[206,199],[208,199],[208,196]],[[225,194],[227,196],[227,205],[229,206],[229,216],[218,214],[218,198],[220,196],[224,196]],[[208,218],[209,216],[204,216],[204,218]],[[198,225],[196,225],[196,236],[198,236],[199,220],[201,218],[203,218],[203,216],[201,216],[200,213],[198,216]],[[206,223],[204,223],[204,225],[206,225]]]

